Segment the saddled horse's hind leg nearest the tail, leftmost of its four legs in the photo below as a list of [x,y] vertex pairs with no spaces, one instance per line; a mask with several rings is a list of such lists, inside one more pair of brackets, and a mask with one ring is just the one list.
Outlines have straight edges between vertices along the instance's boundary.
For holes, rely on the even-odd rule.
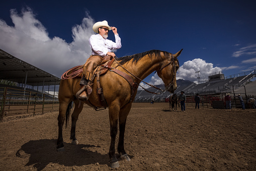
[[57,140],[57,151],[64,151],[62,130],[65,121],[65,115],[68,107],[70,106],[70,101],[62,101],[59,103],[59,116],[58,116],[58,140]]

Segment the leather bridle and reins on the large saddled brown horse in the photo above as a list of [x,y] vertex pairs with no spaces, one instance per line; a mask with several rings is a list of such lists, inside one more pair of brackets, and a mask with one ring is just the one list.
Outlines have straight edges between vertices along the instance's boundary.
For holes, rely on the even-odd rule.
[[[165,91],[169,91],[169,90],[170,90],[170,88],[173,86],[174,77],[175,77],[175,75],[176,75],[176,65],[175,65],[175,61],[178,61],[178,60],[174,58],[173,53],[170,53],[170,54],[172,55],[172,60],[171,60],[168,64],[166,64],[165,66],[163,66],[162,68],[160,68],[160,70],[155,71],[155,72],[160,72],[160,71],[162,71],[162,69],[164,69],[165,67],[167,67],[167,66],[169,66],[170,64],[173,63],[173,79],[172,79],[172,82],[170,82],[170,84],[165,87],[165,90],[162,90],[162,89],[160,89],[160,88],[158,88],[158,87],[155,87],[154,85],[148,84],[147,82],[145,82],[145,81],[141,80],[140,78],[136,77],[135,75],[133,75],[132,73],[130,73],[130,72],[129,72],[128,70],[126,70],[121,64],[119,64],[119,63],[117,62],[117,60],[116,60],[117,57],[116,57],[116,56],[115,56],[114,59],[115,59],[115,62],[116,62],[119,66],[121,66],[125,71],[127,71],[127,72],[128,72],[129,74],[131,74],[133,77],[135,77],[135,78],[137,78],[138,80],[142,81],[143,83],[149,85],[150,87],[153,87],[153,88],[155,88],[155,89],[157,89],[157,90],[161,90],[161,91],[162,91],[162,92],[160,92],[160,93],[154,93],[154,92],[148,91],[147,89],[145,89],[144,87],[142,87],[141,85],[139,85],[139,86],[140,86],[142,89],[144,89],[146,92],[152,93],[152,94],[161,94],[161,93],[164,93]],[[178,65],[180,66],[179,61],[178,61]]]

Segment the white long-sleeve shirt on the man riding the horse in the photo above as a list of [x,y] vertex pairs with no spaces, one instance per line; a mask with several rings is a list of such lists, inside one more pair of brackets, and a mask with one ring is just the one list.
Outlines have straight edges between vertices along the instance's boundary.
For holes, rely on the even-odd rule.
[[119,35],[115,35],[116,42],[103,38],[100,34],[94,34],[90,37],[89,43],[92,48],[92,54],[100,56],[106,56],[107,52],[111,52],[112,49],[119,49],[122,47],[121,38]]

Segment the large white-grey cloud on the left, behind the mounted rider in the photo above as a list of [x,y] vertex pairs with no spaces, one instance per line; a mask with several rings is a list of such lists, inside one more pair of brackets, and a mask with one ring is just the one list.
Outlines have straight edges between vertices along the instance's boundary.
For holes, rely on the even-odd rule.
[[80,25],[72,28],[71,43],[60,37],[50,38],[47,29],[30,8],[21,14],[10,11],[14,26],[0,20],[0,47],[15,57],[57,77],[74,66],[84,64],[91,54],[88,39],[95,21],[87,14]]

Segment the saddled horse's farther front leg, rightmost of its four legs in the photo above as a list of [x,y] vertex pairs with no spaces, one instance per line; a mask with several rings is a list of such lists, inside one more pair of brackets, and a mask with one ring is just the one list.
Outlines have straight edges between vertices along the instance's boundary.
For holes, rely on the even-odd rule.
[[119,112],[119,141],[117,151],[121,155],[121,159],[125,159],[126,161],[130,161],[130,157],[124,150],[124,132],[127,116],[131,110],[132,103],[120,109]]

